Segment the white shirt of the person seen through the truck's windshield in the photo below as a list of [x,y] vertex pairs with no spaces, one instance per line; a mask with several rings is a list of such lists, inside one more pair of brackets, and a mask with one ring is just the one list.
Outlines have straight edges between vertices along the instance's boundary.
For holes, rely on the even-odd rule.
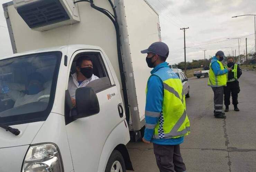
[[[21,86],[18,86],[18,84],[15,84],[14,85],[9,85],[9,87],[21,87]],[[50,95],[51,93],[51,82],[47,82],[45,85],[44,85],[45,89],[37,94],[34,94],[34,95],[27,95],[27,94],[24,94],[24,93],[21,93],[20,91],[18,90],[22,90],[22,89],[18,89],[18,90],[10,90],[10,92],[8,93],[8,95],[15,101],[15,104],[13,107],[17,107],[17,106],[21,106],[21,105],[25,105],[25,104],[28,104],[28,103],[32,103],[32,102],[36,102],[38,101],[38,98],[41,97],[41,96],[44,96],[44,95]],[[48,98],[45,98],[45,99],[42,99],[40,101],[46,101],[48,102]]]

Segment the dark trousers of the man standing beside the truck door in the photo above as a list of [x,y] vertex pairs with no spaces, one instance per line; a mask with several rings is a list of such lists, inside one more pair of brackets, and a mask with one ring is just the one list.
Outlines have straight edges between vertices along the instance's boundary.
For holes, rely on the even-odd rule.
[[160,145],[154,143],[156,163],[160,172],[184,172],[186,166],[181,157],[180,145]]

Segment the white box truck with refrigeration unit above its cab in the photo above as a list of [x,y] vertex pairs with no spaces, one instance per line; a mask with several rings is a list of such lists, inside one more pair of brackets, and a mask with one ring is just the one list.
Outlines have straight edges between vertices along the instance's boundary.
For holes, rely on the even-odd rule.
[[[150,75],[140,50],[161,40],[156,11],[146,0],[3,9],[14,54],[0,58],[0,171],[132,170],[126,144],[145,126]],[[85,56],[99,79],[76,90],[74,108],[68,80]]]

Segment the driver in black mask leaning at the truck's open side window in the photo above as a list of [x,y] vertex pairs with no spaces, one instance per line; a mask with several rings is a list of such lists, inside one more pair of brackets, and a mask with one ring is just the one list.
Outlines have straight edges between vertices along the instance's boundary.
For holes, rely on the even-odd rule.
[[72,74],[68,80],[68,91],[70,93],[73,106],[76,106],[76,89],[85,87],[96,79],[99,78],[93,74],[93,63],[91,58],[88,56],[79,57],[76,61],[76,73]]

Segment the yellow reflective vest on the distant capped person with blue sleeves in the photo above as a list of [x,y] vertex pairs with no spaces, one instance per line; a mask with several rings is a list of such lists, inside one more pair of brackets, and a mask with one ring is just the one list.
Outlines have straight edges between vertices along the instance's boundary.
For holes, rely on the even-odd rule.
[[[213,59],[211,64],[213,62],[218,62],[221,70],[225,69],[220,61]],[[227,85],[227,74],[216,76],[212,70],[211,64],[210,64],[210,70],[209,70],[208,86],[211,86],[211,87],[226,86]]]

